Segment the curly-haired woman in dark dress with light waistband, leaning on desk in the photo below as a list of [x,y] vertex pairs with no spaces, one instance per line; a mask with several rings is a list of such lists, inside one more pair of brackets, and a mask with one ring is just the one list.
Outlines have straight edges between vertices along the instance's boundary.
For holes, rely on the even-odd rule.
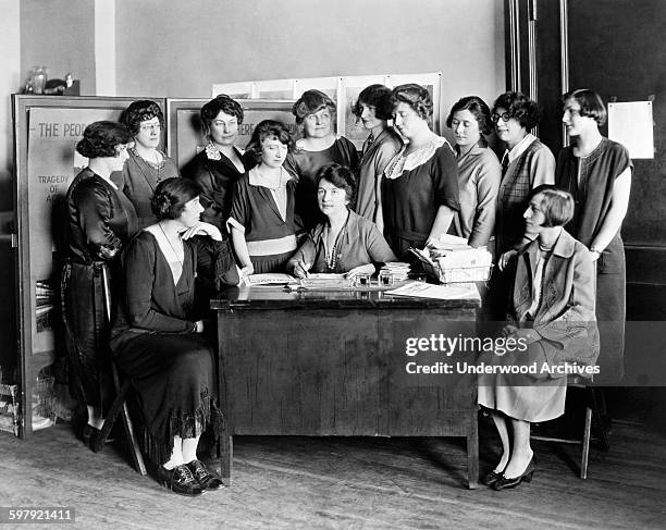
[[283,271],[296,250],[296,183],[283,168],[293,147],[287,127],[274,120],[260,122],[247,145],[257,165],[236,182],[227,221],[243,276]]

